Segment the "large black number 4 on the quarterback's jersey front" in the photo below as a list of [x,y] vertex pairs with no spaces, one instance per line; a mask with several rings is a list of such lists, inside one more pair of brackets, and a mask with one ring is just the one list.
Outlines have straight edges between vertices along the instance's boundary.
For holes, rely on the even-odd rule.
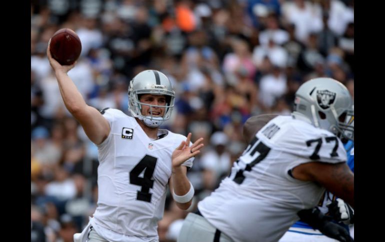
[[[153,186],[152,174],[155,170],[157,158],[145,155],[139,163],[129,172],[129,183],[141,186],[141,190],[137,191],[136,199],[144,202],[151,202],[151,193],[149,189]],[[143,177],[139,175],[144,171]]]

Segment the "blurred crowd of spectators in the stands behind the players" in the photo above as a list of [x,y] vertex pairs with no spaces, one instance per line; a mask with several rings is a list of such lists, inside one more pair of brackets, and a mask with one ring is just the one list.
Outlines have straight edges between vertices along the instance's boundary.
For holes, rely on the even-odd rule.
[[[31,0],[31,242],[72,242],[97,202],[97,148],[65,109],[45,54],[60,28],[81,40],[68,75],[90,106],[128,114],[135,74],[168,76],[176,103],[163,127],[205,144],[187,173],[189,211],[246,147],[248,117],[289,114],[314,77],[354,97],[353,0]],[[168,195],[160,242],[176,241],[185,216]]]

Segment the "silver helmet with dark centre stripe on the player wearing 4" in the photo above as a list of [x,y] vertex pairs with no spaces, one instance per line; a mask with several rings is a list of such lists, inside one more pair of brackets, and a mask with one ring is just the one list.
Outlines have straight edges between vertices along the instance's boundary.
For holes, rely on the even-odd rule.
[[[150,105],[139,102],[139,95],[165,95],[166,106]],[[159,127],[164,120],[170,118],[174,106],[175,92],[172,90],[171,82],[167,76],[157,70],[145,70],[138,73],[129,83],[128,88],[128,109],[133,117],[143,120],[148,127]],[[150,116],[141,114],[141,105],[150,107]],[[152,116],[152,107],[165,108],[162,117]]]

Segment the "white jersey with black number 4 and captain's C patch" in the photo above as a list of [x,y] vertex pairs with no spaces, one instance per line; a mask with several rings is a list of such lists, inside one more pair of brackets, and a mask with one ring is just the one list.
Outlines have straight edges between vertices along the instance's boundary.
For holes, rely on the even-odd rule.
[[[151,140],[134,118],[117,109],[102,113],[110,132],[98,145],[98,201],[91,224],[108,241],[157,241],[171,154],[186,137],[159,130],[164,137]],[[192,161],[183,165],[191,167]]]

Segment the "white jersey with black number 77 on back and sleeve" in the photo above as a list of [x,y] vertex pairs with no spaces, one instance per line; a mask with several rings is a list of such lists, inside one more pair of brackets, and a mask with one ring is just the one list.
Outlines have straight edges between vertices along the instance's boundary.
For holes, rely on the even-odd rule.
[[346,152],[329,131],[278,116],[255,135],[230,176],[198,209],[236,242],[276,242],[299,219],[296,213],[315,207],[325,190],[290,175],[311,161],[345,162]]

